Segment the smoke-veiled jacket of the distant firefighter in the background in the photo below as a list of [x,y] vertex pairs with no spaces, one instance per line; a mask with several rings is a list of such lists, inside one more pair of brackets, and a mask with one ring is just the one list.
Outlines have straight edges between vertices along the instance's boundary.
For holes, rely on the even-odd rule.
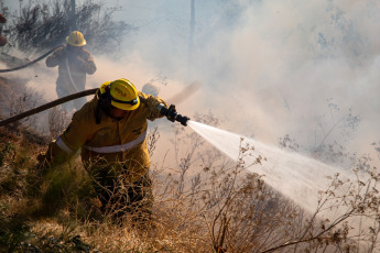
[[73,53],[67,51],[66,46],[57,48],[48,56],[46,66],[58,66],[56,85],[66,95],[85,90],[86,74],[93,75],[96,72],[91,53],[84,48],[78,53]]

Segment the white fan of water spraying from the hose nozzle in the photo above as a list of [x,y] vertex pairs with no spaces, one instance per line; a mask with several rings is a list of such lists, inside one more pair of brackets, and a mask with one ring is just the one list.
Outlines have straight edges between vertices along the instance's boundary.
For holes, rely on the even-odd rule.
[[[249,154],[246,153],[242,156],[247,165],[246,169],[263,175],[268,185],[292,199],[310,213],[313,213],[317,208],[318,190],[325,190],[329,186],[327,176],[340,173],[343,180],[355,178],[348,170],[324,164],[307,155],[280,150],[257,140],[196,121],[189,120],[187,123],[203,139],[232,161],[238,161],[241,157],[241,147],[252,147]],[[262,157],[261,164],[254,165],[258,157]],[[334,216],[336,213],[330,211],[328,215]]]

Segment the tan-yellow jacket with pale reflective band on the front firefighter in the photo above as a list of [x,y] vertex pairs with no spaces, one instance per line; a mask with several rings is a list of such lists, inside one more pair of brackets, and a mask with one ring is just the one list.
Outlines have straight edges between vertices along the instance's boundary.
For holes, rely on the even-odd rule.
[[90,174],[112,167],[111,174],[123,172],[128,174],[128,180],[137,182],[148,173],[151,164],[145,138],[146,120],[162,118],[158,106],[166,103],[161,98],[139,91],[139,108],[128,111],[120,120],[102,113],[97,124],[98,94],[74,113],[67,129],[50,144],[45,157],[51,165],[56,165],[82,147],[82,160]]

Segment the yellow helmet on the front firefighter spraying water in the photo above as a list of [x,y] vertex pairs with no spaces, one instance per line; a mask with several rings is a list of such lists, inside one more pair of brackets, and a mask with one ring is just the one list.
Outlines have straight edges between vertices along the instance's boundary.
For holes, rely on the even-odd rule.
[[106,81],[100,86],[100,94],[111,101],[111,106],[121,110],[134,110],[140,106],[138,90],[127,79]]

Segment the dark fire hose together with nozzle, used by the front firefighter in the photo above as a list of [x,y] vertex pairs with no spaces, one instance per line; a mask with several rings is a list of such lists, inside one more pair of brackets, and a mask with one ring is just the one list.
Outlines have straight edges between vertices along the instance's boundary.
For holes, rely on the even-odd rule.
[[[36,114],[39,112],[45,111],[45,110],[53,108],[53,107],[56,107],[61,103],[64,103],[64,102],[67,102],[67,101],[70,101],[70,100],[74,100],[77,98],[86,97],[89,95],[95,95],[98,91],[98,89],[99,88],[94,88],[94,89],[88,89],[88,90],[84,90],[80,92],[76,92],[73,95],[68,95],[66,97],[54,100],[52,102],[45,103],[41,107],[33,108],[29,111],[22,112],[20,114],[17,114],[17,116],[13,116],[11,118],[8,118],[6,120],[0,121],[0,127],[10,124],[10,123],[15,122],[18,120],[21,120],[21,119],[24,119],[26,117],[30,117],[30,116]],[[144,98],[141,96],[140,96],[140,99],[144,100]],[[182,125],[187,125],[186,123],[189,120],[189,118],[187,118],[186,116],[178,114],[175,110],[175,106],[172,105],[172,106],[170,106],[170,108],[166,108],[163,103],[160,103],[158,109],[162,116],[165,116],[167,118],[167,120],[170,120],[172,122],[177,121]]]

